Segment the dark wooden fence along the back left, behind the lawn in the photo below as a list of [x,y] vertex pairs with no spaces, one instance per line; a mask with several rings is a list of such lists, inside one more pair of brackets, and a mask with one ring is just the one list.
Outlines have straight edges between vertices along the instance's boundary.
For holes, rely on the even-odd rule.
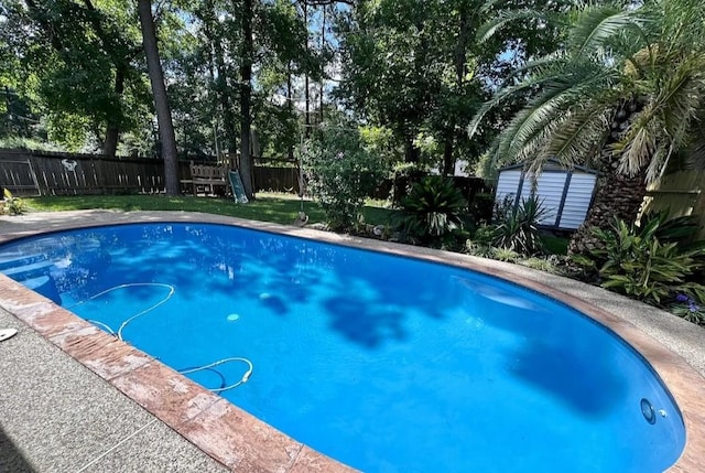
[[[178,180],[191,178],[189,163],[191,160],[178,161]],[[295,168],[254,166],[253,178],[256,190],[299,192]],[[0,186],[19,196],[160,193],[164,192],[164,162],[148,158],[0,150]]]

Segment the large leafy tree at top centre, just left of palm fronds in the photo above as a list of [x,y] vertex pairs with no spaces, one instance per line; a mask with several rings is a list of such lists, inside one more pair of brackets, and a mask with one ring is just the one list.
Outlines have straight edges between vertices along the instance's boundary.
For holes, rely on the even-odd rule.
[[[507,52],[525,58],[554,42],[553,29],[527,24],[479,45],[476,31],[496,3],[360,1],[337,22],[343,56],[338,97],[365,119],[391,128],[406,161],[417,162],[427,150],[430,164],[451,173],[458,157],[474,159],[484,148],[481,139],[468,140],[466,127],[488,92],[509,74]],[[529,3],[556,8],[550,1]]]

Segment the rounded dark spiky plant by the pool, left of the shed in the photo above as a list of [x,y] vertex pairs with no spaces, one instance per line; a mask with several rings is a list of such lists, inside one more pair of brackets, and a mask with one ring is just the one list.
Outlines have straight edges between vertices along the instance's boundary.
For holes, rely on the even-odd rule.
[[467,202],[453,180],[429,175],[413,184],[395,214],[397,228],[411,241],[438,244],[464,226]]

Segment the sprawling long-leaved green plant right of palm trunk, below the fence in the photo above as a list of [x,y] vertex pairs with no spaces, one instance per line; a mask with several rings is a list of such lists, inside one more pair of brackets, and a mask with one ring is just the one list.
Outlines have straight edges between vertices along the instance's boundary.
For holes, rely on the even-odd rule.
[[[601,286],[636,299],[660,304],[686,284],[686,278],[702,267],[702,249],[683,250],[675,241],[658,238],[660,216],[641,227],[615,219],[610,230],[594,230],[603,248],[592,252],[599,268]],[[673,228],[666,227],[668,233]]]

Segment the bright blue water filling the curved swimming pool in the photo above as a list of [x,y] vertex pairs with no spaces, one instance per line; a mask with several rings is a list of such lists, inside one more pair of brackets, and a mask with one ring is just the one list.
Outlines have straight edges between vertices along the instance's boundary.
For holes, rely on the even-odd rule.
[[626,343],[473,271],[206,224],[22,239],[0,271],[175,369],[246,358],[221,396],[364,471],[661,472],[684,447]]

